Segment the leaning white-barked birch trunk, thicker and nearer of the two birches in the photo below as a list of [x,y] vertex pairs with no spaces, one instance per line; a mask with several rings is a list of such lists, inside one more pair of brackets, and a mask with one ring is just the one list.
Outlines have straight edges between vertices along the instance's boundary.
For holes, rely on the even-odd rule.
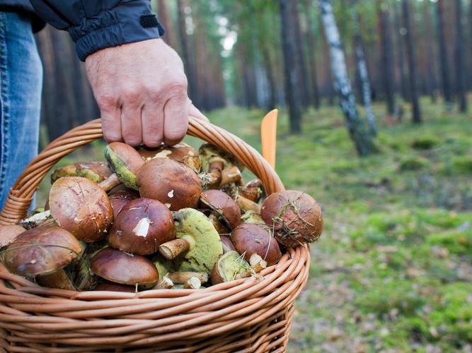
[[331,71],[333,72],[335,89],[340,99],[350,137],[360,156],[369,155],[374,150],[371,136],[367,133],[364,122],[359,117],[354,94],[352,93],[343,47],[340,41],[338,26],[333,15],[333,6],[329,0],[318,0],[321,9],[326,40],[330,48]]

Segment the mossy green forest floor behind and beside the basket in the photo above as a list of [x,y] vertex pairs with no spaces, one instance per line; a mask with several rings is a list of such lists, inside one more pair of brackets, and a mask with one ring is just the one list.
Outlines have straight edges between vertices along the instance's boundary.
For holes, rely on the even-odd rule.
[[[362,159],[338,107],[307,112],[301,136],[280,115],[277,172],[321,203],[326,225],[289,352],[472,352],[472,119],[424,100],[424,124],[389,126],[374,108],[379,152]],[[209,114],[255,148],[262,116]]]

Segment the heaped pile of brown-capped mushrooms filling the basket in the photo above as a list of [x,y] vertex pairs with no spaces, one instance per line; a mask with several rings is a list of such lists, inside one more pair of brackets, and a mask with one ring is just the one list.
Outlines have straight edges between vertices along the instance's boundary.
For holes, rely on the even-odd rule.
[[0,227],[11,273],[74,291],[199,289],[263,277],[323,230],[311,196],[265,198],[259,179],[245,183],[241,162],[208,143],[115,142],[105,160],[56,169],[44,210]]

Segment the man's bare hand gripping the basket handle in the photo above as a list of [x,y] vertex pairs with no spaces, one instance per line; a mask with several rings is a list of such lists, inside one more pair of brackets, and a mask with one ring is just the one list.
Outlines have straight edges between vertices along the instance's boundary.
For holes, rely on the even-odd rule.
[[86,58],[88,80],[108,142],[156,147],[185,136],[191,106],[178,54],[161,39],[102,49]]

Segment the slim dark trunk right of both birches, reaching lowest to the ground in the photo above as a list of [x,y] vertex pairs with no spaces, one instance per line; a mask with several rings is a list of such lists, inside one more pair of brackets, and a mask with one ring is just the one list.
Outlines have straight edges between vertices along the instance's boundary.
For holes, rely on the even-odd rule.
[[413,28],[410,23],[410,8],[408,0],[402,0],[403,5],[403,22],[405,24],[406,33],[406,52],[408,56],[408,78],[410,82],[410,97],[413,105],[413,123],[421,123],[420,103],[418,102],[418,80],[416,75],[416,55],[413,48]]

